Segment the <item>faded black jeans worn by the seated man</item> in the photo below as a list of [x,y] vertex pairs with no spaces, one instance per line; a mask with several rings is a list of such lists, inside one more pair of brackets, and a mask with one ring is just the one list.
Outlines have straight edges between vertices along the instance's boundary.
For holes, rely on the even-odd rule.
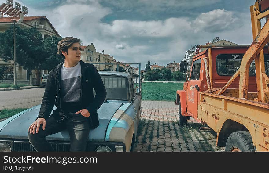
[[33,133],[28,132],[28,138],[36,151],[53,151],[46,136],[65,129],[68,130],[70,135],[71,151],[85,151],[90,131],[89,123],[88,121],[76,121],[72,117],[68,117],[62,122],[57,122],[57,117],[51,115],[46,119],[45,130],[40,125],[38,133],[33,135]]

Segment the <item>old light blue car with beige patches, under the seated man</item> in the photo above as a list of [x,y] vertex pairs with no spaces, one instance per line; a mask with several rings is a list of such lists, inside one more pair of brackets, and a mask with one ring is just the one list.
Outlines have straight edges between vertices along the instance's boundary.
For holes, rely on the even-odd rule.
[[[86,151],[134,151],[141,117],[141,87],[138,87],[141,85],[134,85],[134,77],[129,73],[111,71],[99,73],[107,97],[97,110],[100,125],[90,130]],[[40,106],[29,108],[0,122],[0,152],[35,151],[28,140],[28,128],[35,121]],[[70,151],[67,130],[46,138],[54,151]]]

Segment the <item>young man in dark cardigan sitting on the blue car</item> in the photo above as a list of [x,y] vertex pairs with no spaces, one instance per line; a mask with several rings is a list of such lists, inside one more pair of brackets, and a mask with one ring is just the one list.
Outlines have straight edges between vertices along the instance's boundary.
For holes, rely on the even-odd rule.
[[[57,53],[64,62],[50,71],[39,115],[28,129],[29,141],[37,151],[53,151],[46,136],[64,129],[69,132],[71,151],[85,151],[90,128],[99,125],[97,109],[106,90],[94,65],[80,60],[79,42],[66,37],[58,43]],[[57,109],[50,116],[54,105]]]

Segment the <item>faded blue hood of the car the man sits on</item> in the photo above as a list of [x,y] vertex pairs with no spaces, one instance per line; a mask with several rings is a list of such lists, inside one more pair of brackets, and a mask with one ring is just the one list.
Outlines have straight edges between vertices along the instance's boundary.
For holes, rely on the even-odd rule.
[[[103,103],[97,110],[100,125],[91,129],[89,133],[89,141],[105,141],[105,132],[107,126],[123,103]],[[35,121],[39,114],[40,106],[35,106],[25,110],[22,114],[16,114],[13,117],[0,122],[0,137],[13,139],[28,139],[28,128]],[[53,110],[56,106],[53,107]],[[51,112],[51,114],[53,111]],[[2,128],[2,129],[1,129]],[[67,130],[64,130],[46,137],[48,140],[70,140]]]

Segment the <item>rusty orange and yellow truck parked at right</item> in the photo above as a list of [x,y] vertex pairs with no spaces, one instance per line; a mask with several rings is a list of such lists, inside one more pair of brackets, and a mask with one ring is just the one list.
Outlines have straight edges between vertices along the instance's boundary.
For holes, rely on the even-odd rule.
[[[179,126],[190,117],[207,124],[225,151],[269,151],[268,9],[269,0],[250,6],[251,45],[197,46],[208,49],[193,57],[183,90],[176,92]],[[180,71],[187,66],[182,61]]]

